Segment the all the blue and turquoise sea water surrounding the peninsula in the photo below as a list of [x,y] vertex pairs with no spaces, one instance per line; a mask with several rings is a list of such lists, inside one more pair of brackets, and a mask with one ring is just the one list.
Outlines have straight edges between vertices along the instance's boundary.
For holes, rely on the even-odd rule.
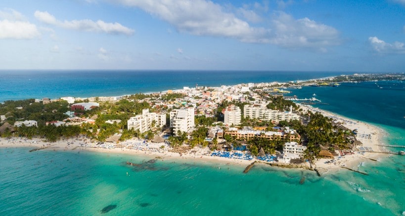
[[[67,73],[70,74],[68,77],[71,77],[74,72]],[[101,75],[91,73],[94,73],[93,76],[82,72],[78,75],[82,78],[77,78],[76,83],[87,81],[100,86],[96,89],[102,88],[102,84],[94,81],[92,77],[99,77],[108,72],[100,72]],[[236,75],[232,75],[233,73]],[[148,89],[147,82],[142,84],[144,87],[135,89],[147,92],[194,86],[195,83],[199,86],[218,86],[288,81],[281,78],[283,73],[290,74],[286,75],[290,80],[332,75],[326,72],[233,73],[225,72],[227,75],[224,75],[224,72],[209,72],[207,74],[211,78],[208,78],[205,72],[190,72],[188,76],[187,72],[179,72],[177,76],[171,75],[172,78],[166,77],[165,82],[171,83],[167,86],[163,83],[151,83],[159,85],[161,89]],[[190,85],[176,81],[180,74]],[[341,73],[335,75],[338,74]],[[64,75],[50,76],[55,76],[52,78],[53,82],[59,83],[55,88],[62,88],[60,85],[64,82],[59,79]],[[147,74],[127,78],[125,82],[140,85],[140,81],[135,78],[139,76],[147,77]],[[226,81],[218,79],[223,76],[227,77]],[[197,80],[197,77],[200,79]],[[42,79],[48,80],[44,81],[45,83],[51,82],[51,78],[46,75],[43,75]],[[201,79],[205,80],[205,84],[200,84],[204,83]],[[32,80],[26,79],[25,85],[29,85]],[[68,80],[72,81],[72,78],[66,77],[65,81]],[[21,80],[19,82],[24,83]],[[116,84],[110,83],[97,93],[93,89],[94,86],[64,83],[64,90],[52,93],[53,96],[49,95],[50,93],[43,96],[40,91],[10,91],[15,87],[6,83],[5,87],[9,93],[6,96],[1,93],[1,97],[5,100],[12,98],[13,94],[23,98],[90,96],[86,95],[86,88],[88,92],[94,91],[94,96],[101,96],[103,94],[100,92],[110,92],[110,87],[120,89]],[[382,89],[379,88],[381,86]],[[47,91],[52,92],[52,88],[49,87]],[[1,91],[4,91],[4,88]],[[291,91],[291,95],[300,98],[313,97],[315,93],[317,99],[328,104],[314,105],[315,107],[378,125],[388,133],[384,138],[385,144],[405,146],[403,82],[343,83],[335,88],[304,87]],[[116,91],[111,94],[121,93]],[[263,165],[255,166],[248,174],[243,174],[244,167],[216,162],[184,163],[180,160],[165,159],[151,163],[148,161],[152,158],[127,154],[62,150],[29,152],[29,149],[0,148],[0,215],[391,216],[402,215],[405,211],[405,157],[400,155],[381,157],[377,162],[363,162],[359,169],[367,172],[368,176],[340,170],[335,174],[317,177],[314,172],[307,170]],[[129,167],[125,164],[126,161],[145,163],[144,169]],[[219,166],[222,169],[218,169]],[[306,178],[304,184],[300,184],[302,176]],[[109,211],[103,214],[103,209]]]

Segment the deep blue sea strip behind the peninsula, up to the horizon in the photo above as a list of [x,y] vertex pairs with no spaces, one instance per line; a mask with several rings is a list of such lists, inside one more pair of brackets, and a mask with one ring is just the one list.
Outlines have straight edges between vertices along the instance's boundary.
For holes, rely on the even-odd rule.
[[[0,71],[0,102],[27,98],[121,96],[248,82],[296,81],[344,72]],[[101,95],[100,95],[101,94]]]

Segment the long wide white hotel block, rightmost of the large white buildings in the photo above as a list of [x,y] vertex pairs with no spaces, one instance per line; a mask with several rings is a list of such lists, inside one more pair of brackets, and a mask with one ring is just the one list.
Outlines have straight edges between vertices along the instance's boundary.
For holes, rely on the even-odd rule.
[[298,114],[292,112],[292,107],[290,107],[290,111],[280,112],[278,110],[268,109],[264,106],[245,105],[243,115],[249,118],[272,121],[274,123],[300,119]]

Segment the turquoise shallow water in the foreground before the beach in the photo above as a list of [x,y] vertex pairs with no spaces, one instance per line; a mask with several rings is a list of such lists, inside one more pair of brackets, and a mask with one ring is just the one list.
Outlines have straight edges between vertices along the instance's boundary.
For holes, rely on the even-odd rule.
[[[171,160],[155,162],[153,170],[134,170],[127,160],[148,159],[27,148],[3,148],[0,154],[6,172],[0,215],[99,215],[108,205],[117,205],[108,215],[392,215],[387,203],[399,209],[401,198],[376,188],[380,176],[363,180],[351,172],[319,178],[258,166],[242,174],[243,167],[220,170],[216,164]],[[375,197],[381,192],[389,197]]]

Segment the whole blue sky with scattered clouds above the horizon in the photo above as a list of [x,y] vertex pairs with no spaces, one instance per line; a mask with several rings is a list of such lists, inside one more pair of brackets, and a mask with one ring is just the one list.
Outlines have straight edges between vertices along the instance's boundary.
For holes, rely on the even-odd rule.
[[405,72],[405,0],[1,0],[14,69]]

